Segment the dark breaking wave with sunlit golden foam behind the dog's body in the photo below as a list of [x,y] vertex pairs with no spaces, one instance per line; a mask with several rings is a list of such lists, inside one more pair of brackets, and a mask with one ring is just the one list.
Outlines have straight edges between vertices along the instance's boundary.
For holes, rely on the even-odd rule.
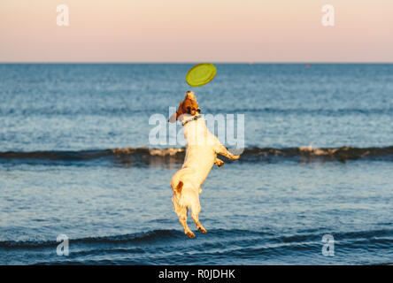
[[[107,160],[128,164],[181,164],[184,160],[185,149],[96,149],[96,150],[65,150],[65,151],[4,151],[0,152],[0,162],[18,160],[19,162],[69,162]],[[225,158],[224,158],[225,159]],[[296,161],[340,161],[347,160],[388,160],[393,161],[393,146],[389,147],[340,147],[314,148],[312,146],[299,148],[259,148],[250,147],[243,150],[241,162],[272,161],[292,159]],[[226,160],[228,161],[228,160]]]

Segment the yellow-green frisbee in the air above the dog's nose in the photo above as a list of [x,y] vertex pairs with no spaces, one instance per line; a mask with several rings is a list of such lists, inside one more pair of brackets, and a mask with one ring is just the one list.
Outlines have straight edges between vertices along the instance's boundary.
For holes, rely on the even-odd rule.
[[215,65],[211,63],[201,63],[189,69],[186,81],[191,87],[202,87],[214,79],[217,73]]

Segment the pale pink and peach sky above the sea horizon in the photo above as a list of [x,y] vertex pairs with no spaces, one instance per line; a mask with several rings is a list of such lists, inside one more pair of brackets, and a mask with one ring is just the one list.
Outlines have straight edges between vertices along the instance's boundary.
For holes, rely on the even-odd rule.
[[392,15],[393,0],[0,0],[0,62],[393,63]]

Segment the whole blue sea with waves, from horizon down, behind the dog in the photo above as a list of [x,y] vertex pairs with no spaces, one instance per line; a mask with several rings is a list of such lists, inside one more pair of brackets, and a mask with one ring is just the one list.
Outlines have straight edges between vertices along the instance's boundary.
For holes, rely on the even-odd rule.
[[[393,263],[393,65],[218,64],[201,88],[191,66],[0,65],[0,264]],[[244,115],[192,240],[171,203],[184,151],[149,140],[186,90]]]

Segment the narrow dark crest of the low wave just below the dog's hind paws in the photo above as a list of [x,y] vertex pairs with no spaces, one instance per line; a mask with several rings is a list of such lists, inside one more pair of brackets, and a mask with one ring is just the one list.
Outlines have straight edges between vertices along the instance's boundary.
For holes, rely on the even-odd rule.
[[[297,233],[274,233],[269,229],[263,231],[254,231],[247,229],[212,229],[204,236],[201,242],[204,247],[219,248],[226,244],[238,244],[240,246],[248,246],[255,241],[263,241],[265,244],[271,245],[287,245],[287,244],[306,244],[309,242],[320,242],[321,235],[326,233],[319,229],[310,232],[297,231]],[[336,239],[341,243],[347,243],[352,247],[362,245],[366,242],[376,242],[381,246],[389,246],[393,243],[393,229],[373,229],[373,230],[360,230],[360,231],[347,231],[333,233]],[[207,238],[206,238],[207,237]],[[142,243],[152,244],[154,242],[173,241],[173,244],[181,245],[181,240],[186,241],[187,237],[181,230],[174,229],[157,229],[147,232],[127,233],[119,235],[108,235],[100,237],[86,237],[69,239],[70,244],[73,245],[116,245],[121,246],[138,245]],[[361,241],[359,243],[359,241]],[[123,245],[124,244],[124,245]],[[225,244],[225,245],[226,245]],[[225,246],[224,245],[224,246]],[[58,246],[57,241],[0,241],[0,249],[35,249],[35,248],[51,248]],[[194,248],[197,248],[194,246]]]

